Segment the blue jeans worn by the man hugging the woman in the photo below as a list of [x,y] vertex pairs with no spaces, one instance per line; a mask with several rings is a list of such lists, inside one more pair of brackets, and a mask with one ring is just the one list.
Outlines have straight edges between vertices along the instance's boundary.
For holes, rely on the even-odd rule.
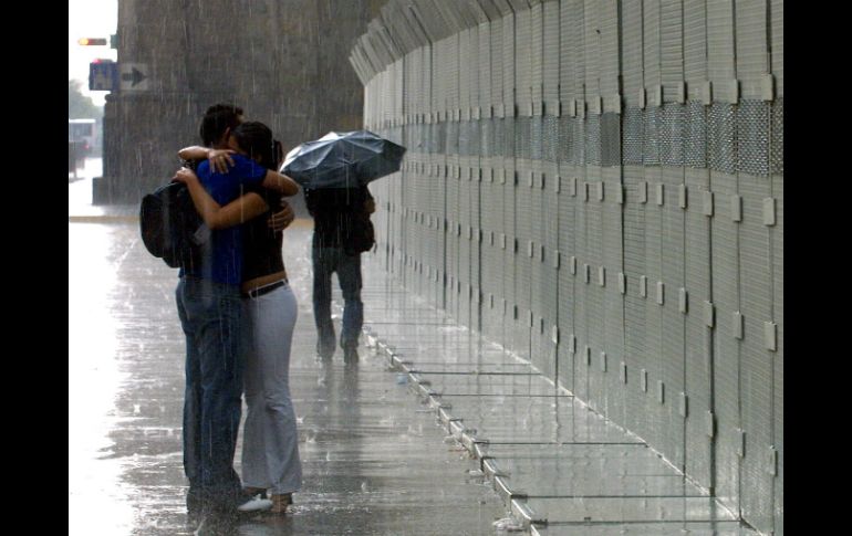
[[191,509],[190,500],[227,505],[241,490],[233,471],[245,368],[239,286],[185,276],[176,295],[186,335],[184,470],[189,479],[188,506]]

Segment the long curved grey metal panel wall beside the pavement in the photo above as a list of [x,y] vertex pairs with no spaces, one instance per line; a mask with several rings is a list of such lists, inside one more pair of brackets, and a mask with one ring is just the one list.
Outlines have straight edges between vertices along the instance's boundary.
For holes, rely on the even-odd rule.
[[389,271],[783,532],[783,4],[393,0]]

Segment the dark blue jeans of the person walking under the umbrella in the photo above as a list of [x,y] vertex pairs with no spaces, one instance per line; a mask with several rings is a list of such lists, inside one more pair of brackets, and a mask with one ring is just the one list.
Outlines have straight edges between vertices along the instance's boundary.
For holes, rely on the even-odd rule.
[[337,272],[343,293],[342,348],[354,349],[364,324],[364,304],[361,302],[361,255],[347,255],[343,248],[312,248],[313,318],[316,323],[316,353],[334,355],[334,324],[331,320],[331,274]]

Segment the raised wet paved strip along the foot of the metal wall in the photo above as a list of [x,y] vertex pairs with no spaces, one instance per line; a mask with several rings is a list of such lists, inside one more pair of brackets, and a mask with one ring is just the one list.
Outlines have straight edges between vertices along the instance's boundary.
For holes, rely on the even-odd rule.
[[533,535],[756,535],[634,434],[404,292],[368,256],[367,345],[384,355]]

